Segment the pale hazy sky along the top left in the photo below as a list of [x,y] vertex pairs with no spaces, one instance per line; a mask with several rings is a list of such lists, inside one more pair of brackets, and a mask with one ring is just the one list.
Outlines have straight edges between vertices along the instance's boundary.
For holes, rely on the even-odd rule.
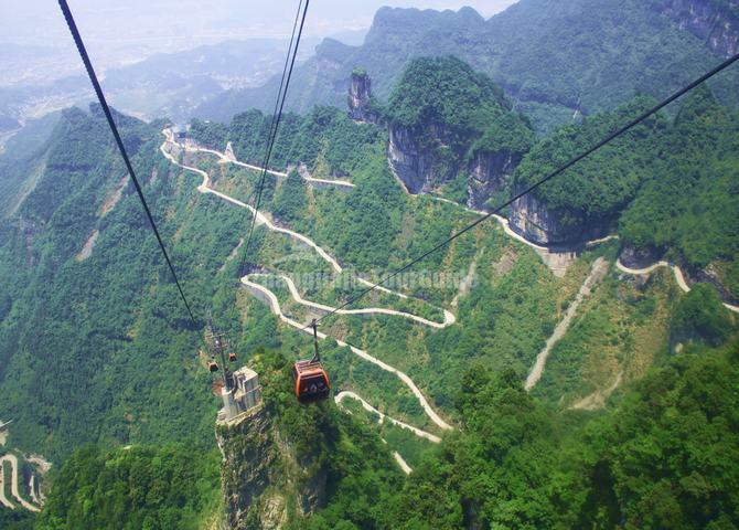
[[[296,0],[68,0],[90,45],[160,43],[163,49],[226,38],[289,34]],[[312,0],[306,34],[367,28],[383,6],[459,9],[490,17],[516,0]],[[68,41],[54,0],[0,0],[0,42],[60,45]],[[191,47],[191,46],[186,46]],[[164,51],[164,50],[163,50]]]

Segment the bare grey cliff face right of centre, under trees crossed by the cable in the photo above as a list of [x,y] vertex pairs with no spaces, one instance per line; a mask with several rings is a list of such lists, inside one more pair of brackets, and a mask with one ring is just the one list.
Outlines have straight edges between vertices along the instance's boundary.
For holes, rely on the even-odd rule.
[[612,219],[585,219],[568,210],[553,210],[528,193],[512,205],[511,229],[539,245],[570,246],[608,235]]

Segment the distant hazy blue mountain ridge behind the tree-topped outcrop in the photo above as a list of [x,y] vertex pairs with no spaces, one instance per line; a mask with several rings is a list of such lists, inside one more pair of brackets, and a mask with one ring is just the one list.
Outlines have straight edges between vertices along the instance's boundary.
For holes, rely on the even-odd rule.
[[[522,0],[488,21],[469,8],[381,9],[361,46],[325,40],[317,47],[315,56],[297,70],[288,105],[300,110],[317,103],[341,105],[356,66],[366,70],[376,95],[385,99],[414,57],[454,55],[500,83],[537,130],[549,130],[571,120],[575,112],[610,109],[635,92],[664,96],[717,63],[717,55],[725,56],[728,47],[707,42],[736,45],[736,15],[709,0],[689,3],[695,6]],[[714,29],[707,41],[709,30],[696,29],[690,17],[695,9],[703,19],[716,20],[722,33]],[[713,13],[718,17],[710,18]],[[722,97],[736,100],[732,83],[736,74],[717,85]],[[279,78],[261,88],[226,92],[204,104],[199,115],[228,120],[249,107],[266,110],[278,84]]]

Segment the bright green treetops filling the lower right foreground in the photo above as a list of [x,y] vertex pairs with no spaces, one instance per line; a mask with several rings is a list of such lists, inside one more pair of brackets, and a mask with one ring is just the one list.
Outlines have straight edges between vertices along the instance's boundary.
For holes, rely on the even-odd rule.
[[383,519],[330,509],[344,510],[346,528],[722,528],[739,518],[737,346],[692,348],[591,420],[551,415],[512,372],[471,370],[456,401],[464,428]]

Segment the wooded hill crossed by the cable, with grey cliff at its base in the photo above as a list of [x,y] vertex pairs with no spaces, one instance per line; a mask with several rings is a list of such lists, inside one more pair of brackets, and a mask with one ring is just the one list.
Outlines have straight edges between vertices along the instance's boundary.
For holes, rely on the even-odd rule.
[[[612,113],[558,128],[516,169],[515,191],[532,186],[652,105],[649,98],[635,98]],[[512,227],[529,241],[550,245],[607,235],[650,174],[666,123],[664,116],[650,118],[568,170],[566,178],[547,182],[516,201]]]

